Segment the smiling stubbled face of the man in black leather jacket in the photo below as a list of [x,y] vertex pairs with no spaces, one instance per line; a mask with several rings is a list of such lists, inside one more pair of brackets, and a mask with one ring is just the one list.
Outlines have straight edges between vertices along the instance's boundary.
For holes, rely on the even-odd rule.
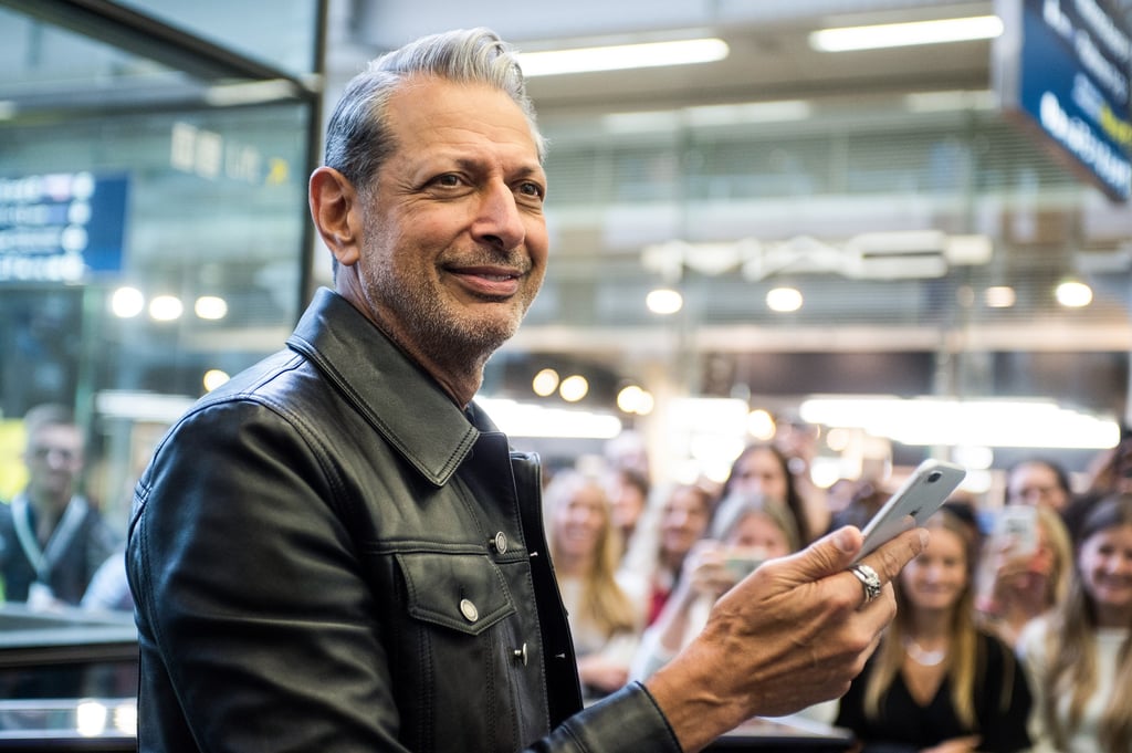
[[388,118],[396,149],[360,197],[362,293],[402,346],[479,362],[515,333],[546,272],[534,139],[520,108],[482,85],[412,80]]

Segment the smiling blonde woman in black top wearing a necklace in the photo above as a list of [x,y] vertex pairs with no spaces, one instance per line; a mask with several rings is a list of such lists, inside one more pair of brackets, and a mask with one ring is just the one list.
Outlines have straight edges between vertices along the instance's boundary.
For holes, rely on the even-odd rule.
[[897,616],[835,724],[868,753],[1012,753],[1029,748],[1022,668],[974,615],[976,545],[944,508],[931,546],[893,581]]

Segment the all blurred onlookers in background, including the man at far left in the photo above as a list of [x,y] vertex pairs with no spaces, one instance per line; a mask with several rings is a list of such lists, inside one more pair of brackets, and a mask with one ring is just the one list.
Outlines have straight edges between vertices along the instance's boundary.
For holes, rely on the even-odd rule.
[[[120,537],[80,494],[79,426],[42,405],[26,434],[26,488],[0,507],[6,600],[131,609]],[[1080,493],[1053,460],[1017,463],[997,519],[1019,529],[949,502],[893,581],[897,617],[863,674],[801,716],[852,730],[866,752],[1132,750],[1130,456],[1132,440],[1098,455]],[[815,515],[771,443],[748,446],[722,485],[653,484],[612,456],[601,476],[554,473],[543,520],[586,702],[663,667],[720,596],[823,534],[818,521],[863,525],[883,480],[847,484],[846,502]]]

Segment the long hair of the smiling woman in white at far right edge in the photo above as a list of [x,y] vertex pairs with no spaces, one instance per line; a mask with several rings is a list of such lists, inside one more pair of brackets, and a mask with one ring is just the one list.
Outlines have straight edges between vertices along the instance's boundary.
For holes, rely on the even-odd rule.
[[[1115,494],[1098,500],[1084,516],[1074,541],[1073,576],[1066,597],[1054,608],[1046,633],[1049,667],[1039,678],[1049,692],[1043,711],[1049,720],[1058,750],[1081,724],[1084,707],[1097,687],[1097,613],[1092,597],[1084,589],[1078,564],[1082,545],[1092,536],[1112,528],[1132,525],[1132,495]],[[1132,625],[1127,627],[1132,628]],[[1132,639],[1125,639],[1118,654],[1112,698],[1100,718],[1099,744],[1106,753],[1127,753],[1132,748]],[[1069,724],[1057,716],[1057,701],[1069,698]]]

